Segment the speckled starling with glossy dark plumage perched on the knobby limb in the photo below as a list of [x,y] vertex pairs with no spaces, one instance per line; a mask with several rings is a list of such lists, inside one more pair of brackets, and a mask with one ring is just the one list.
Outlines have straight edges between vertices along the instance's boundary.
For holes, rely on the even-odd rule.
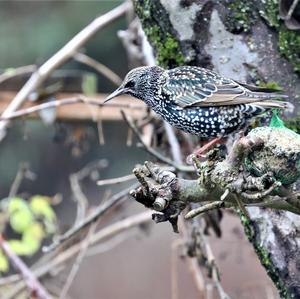
[[131,70],[106,101],[128,94],[144,101],[171,125],[201,137],[225,137],[247,127],[255,116],[285,108],[286,98],[194,66]]

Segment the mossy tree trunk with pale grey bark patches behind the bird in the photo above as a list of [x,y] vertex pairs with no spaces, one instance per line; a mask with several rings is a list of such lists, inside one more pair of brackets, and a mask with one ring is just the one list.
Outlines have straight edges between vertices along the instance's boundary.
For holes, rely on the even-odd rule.
[[[295,106],[286,116],[299,117],[300,34],[280,20],[277,0],[134,0],[134,6],[159,65],[198,65],[282,88]],[[247,211],[246,233],[281,296],[300,298],[300,217]]]

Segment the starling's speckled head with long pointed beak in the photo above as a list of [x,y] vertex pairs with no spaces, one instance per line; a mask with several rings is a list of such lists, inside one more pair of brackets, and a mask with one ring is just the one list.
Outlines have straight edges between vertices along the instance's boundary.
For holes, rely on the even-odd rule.
[[105,102],[121,95],[128,94],[136,97],[153,107],[156,106],[156,93],[164,70],[158,66],[143,66],[131,70],[121,86],[110,94]]

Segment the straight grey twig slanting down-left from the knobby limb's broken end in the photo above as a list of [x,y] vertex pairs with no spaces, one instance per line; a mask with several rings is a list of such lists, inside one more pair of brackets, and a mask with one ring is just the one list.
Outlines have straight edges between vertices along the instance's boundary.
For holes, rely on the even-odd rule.
[[84,221],[79,223],[78,225],[74,226],[70,230],[68,230],[64,235],[60,236],[58,239],[56,239],[50,246],[44,248],[45,252],[52,251],[56,249],[59,245],[61,245],[63,242],[66,242],[70,240],[72,237],[74,237],[76,234],[78,234],[80,231],[82,231],[84,228],[86,228],[90,223],[96,221],[100,216],[102,216],[107,210],[109,210],[111,207],[119,203],[124,197],[128,195],[128,193],[139,186],[139,183],[136,183],[132,186],[130,186],[127,189],[124,189],[120,191],[119,193],[113,195],[110,200],[105,202],[103,205],[100,205],[98,208],[96,208],[91,215],[87,216]]

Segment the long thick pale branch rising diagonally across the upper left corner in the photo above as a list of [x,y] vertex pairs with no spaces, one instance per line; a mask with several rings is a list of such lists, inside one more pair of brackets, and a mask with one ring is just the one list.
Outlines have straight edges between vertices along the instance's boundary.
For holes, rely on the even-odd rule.
[[[96,18],[82,31],[75,35],[63,48],[41,65],[30,77],[27,83],[18,92],[9,106],[3,112],[2,117],[9,117],[27,99],[28,95],[35,91],[48,76],[64,62],[72,58],[74,53],[82,47],[97,31],[123,16],[130,8],[129,2],[125,2],[108,13]],[[5,129],[8,121],[0,122],[0,141],[5,137]]]

